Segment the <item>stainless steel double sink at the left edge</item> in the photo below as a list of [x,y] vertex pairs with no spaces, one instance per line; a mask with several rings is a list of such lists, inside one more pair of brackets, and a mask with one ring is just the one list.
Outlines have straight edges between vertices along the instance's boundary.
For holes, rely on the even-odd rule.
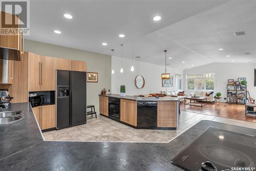
[[14,122],[20,119],[22,119],[22,112],[20,111],[0,112],[0,125]]

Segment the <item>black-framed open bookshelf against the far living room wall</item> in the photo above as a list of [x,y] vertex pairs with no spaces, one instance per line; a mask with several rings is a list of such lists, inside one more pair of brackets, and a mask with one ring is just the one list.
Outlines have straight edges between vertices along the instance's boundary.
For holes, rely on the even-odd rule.
[[247,86],[227,84],[227,103],[246,104]]

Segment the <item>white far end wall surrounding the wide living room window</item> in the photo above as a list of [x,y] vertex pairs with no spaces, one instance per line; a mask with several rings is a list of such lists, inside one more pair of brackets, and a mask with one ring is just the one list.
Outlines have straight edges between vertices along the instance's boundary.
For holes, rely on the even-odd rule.
[[215,73],[216,84],[215,93],[221,92],[222,101],[227,95],[226,85],[228,79],[238,80],[245,77],[247,81],[247,90],[252,98],[256,98],[256,87],[254,87],[254,68],[255,63],[210,63],[208,65],[184,70],[184,89],[186,90],[187,74],[205,74]]

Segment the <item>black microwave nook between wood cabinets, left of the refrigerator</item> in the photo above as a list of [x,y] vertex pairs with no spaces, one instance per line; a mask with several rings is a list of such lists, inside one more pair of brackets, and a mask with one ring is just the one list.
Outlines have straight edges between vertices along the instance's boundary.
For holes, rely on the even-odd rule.
[[29,92],[29,102],[33,107],[55,104],[55,91]]

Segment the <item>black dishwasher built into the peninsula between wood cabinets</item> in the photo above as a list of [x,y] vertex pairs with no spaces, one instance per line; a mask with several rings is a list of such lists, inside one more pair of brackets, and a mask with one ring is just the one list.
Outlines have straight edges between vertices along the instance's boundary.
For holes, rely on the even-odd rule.
[[137,102],[137,127],[157,127],[157,101]]

